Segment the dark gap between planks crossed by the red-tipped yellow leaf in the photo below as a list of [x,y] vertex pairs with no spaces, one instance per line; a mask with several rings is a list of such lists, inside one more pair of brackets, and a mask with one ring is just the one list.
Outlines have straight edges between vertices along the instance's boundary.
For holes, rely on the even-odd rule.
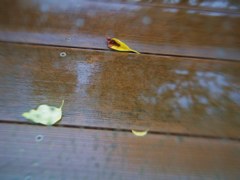
[[[29,42],[13,42],[13,41],[2,41],[0,43],[8,43],[8,44],[18,44],[18,45],[28,45],[28,46],[43,46],[43,47],[54,47],[54,48],[71,48],[78,50],[90,50],[90,51],[104,51],[104,52],[116,52],[110,49],[103,48],[88,48],[88,47],[76,47],[76,46],[64,46],[64,45],[54,45],[54,44],[41,44],[41,43],[29,43]],[[213,57],[202,57],[202,56],[188,56],[188,55],[177,55],[177,54],[162,54],[162,53],[150,53],[150,52],[140,52],[143,55],[152,55],[152,56],[164,56],[164,57],[177,57],[177,58],[187,58],[187,59],[203,59],[203,60],[215,60],[215,61],[227,61],[227,62],[239,62],[236,59],[223,59],[223,58],[213,58]],[[134,53],[131,53],[134,54]]]

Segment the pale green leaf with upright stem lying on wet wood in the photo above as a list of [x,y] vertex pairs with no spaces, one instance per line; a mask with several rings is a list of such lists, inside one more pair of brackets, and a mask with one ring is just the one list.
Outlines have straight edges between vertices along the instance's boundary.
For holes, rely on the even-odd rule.
[[22,116],[35,123],[50,126],[62,118],[63,104],[64,100],[62,101],[62,104],[59,108],[42,104],[38,106],[36,110],[31,109],[29,112],[23,113]]

